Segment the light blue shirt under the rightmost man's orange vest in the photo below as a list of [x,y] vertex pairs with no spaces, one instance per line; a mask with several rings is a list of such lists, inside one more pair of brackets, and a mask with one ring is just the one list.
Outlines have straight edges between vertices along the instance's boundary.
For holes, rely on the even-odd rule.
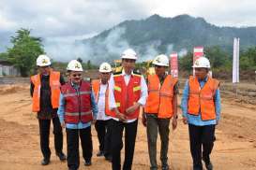
[[[199,80],[200,87],[203,88],[208,78],[204,78],[203,80]],[[196,126],[205,126],[211,124],[217,124],[217,121],[220,118],[220,92],[219,89],[216,91],[214,102],[215,102],[215,111],[216,111],[216,120],[202,120],[201,113],[198,116],[188,114],[188,95],[189,95],[189,86],[188,80],[185,84],[185,88],[182,95],[181,100],[181,108],[182,108],[182,116],[188,118],[188,123]]]

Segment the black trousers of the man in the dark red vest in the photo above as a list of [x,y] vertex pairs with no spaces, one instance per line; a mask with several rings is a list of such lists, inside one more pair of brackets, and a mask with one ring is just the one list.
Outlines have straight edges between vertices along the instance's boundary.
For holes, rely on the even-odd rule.
[[85,129],[68,129],[67,132],[67,145],[68,145],[68,168],[78,169],[80,165],[79,158],[79,137],[83,150],[83,159],[85,162],[91,161],[93,154],[93,143],[91,126]]

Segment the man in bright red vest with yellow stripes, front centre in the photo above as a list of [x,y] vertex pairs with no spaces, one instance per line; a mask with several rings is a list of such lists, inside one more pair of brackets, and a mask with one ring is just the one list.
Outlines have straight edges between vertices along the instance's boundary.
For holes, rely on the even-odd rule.
[[143,76],[133,71],[137,54],[134,50],[125,50],[122,55],[122,72],[114,73],[109,82],[108,113],[113,119],[112,168],[121,169],[121,149],[123,148],[123,131],[125,129],[125,162],[123,169],[130,170],[133,161],[134,146],[137,135],[140,106],[145,105],[147,87]]

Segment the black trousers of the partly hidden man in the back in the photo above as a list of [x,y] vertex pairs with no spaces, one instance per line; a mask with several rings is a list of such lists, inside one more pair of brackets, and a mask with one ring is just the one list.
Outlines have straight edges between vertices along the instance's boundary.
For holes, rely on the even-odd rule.
[[111,156],[111,135],[113,120],[97,120],[95,128],[98,134],[99,150],[105,157]]

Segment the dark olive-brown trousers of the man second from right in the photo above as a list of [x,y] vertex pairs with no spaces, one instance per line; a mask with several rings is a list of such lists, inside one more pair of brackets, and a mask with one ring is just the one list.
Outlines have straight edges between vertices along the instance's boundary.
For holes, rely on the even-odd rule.
[[158,169],[157,163],[157,140],[158,132],[161,139],[161,151],[160,160],[162,166],[166,166],[168,163],[168,146],[169,146],[169,124],[170,119],[158,119],[156,115],[146,115],[146,134],[148,143],[149,160],[151,163],[151,169]]

